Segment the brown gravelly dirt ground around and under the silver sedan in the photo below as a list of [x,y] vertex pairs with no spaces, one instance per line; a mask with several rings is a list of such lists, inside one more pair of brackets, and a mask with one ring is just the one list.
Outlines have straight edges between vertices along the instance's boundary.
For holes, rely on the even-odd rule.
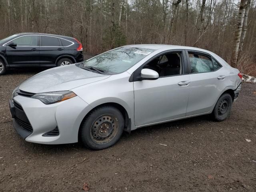
[[84,183],[92,192],[256,191],[256,84],[242,84],[224,122],[201,116],[141,128],[92,151],[16,134],[8,100],[39,71],[0,76],[0,192],[80,192]]

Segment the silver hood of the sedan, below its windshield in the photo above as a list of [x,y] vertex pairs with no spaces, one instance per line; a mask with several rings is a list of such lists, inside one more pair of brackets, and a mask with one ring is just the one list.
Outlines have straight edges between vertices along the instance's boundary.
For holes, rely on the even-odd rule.
[[90,72],[72,64],[40,72],[23,82],[19,89],[30,93],[64,91],[104,80],[109,76]]

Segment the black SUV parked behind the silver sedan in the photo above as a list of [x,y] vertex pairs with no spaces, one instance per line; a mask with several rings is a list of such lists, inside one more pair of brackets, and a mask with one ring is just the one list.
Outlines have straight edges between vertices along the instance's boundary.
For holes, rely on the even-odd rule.
[[20,33],[0,40],[0,75],[10,68],[56,67],[82,62],[82,44],[75,38]]

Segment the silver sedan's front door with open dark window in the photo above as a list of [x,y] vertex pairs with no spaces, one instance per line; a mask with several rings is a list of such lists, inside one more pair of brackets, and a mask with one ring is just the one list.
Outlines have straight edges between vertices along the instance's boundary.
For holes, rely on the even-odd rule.
[[136,126],[185,117],[190,76],[184,72],[183,58],[182,51],[168,52],[143,67],[157,71],[159,78],[134,81]]

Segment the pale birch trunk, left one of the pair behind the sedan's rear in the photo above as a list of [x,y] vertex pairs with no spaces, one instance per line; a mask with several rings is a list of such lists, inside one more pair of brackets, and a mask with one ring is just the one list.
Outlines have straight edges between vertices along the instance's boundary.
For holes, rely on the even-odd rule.
[[245,13],[245,6],[246,6],[247,0],[241,0],[240,6],[239,6],[239,12],[238,12],[238,20],[237,20],[237,27],[235,32],[235,38],[234,38],[234,47],[233,47],[233,53],[232,53],[232,66],[235,66],[238,59],[238,50],[239,50],[239,44],[242,34],[242,28],[244,23],[244,13]]

